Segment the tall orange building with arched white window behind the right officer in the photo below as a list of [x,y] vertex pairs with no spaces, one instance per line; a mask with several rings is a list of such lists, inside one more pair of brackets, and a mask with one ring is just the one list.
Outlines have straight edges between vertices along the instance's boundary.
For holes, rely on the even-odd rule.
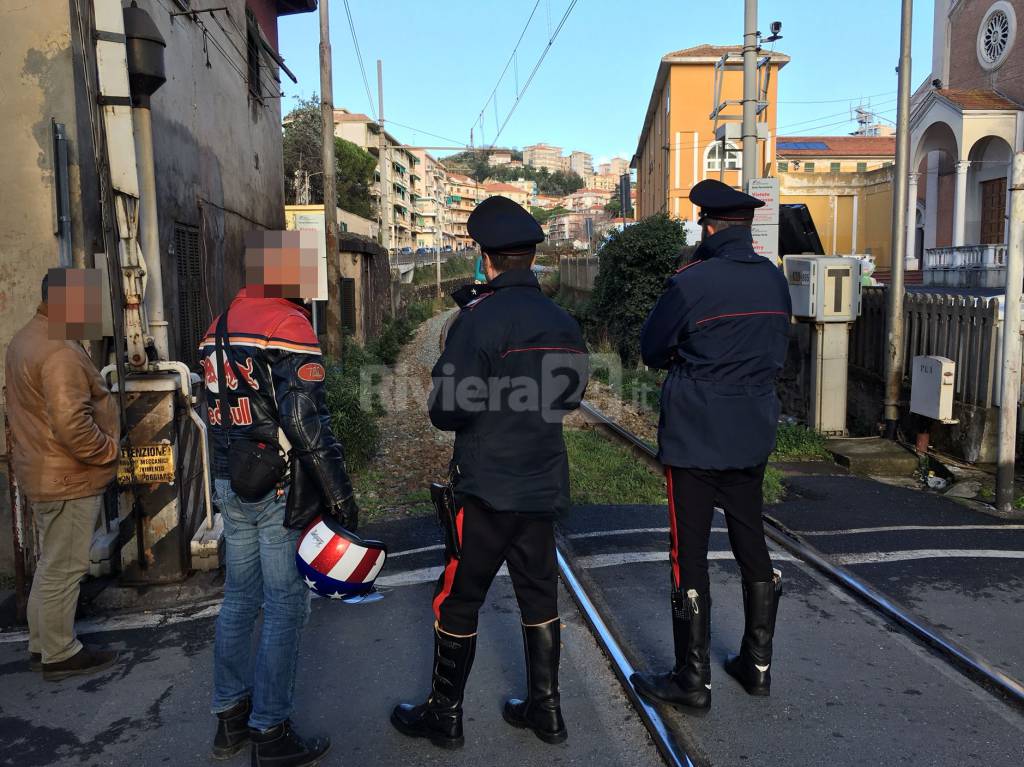
[[[709,117],[715,106],[715,65],[727,54],[730,63],[737,63],[740,52],[738,45],[698,45],[662,57],[633,159],[637,218],[667,212],[696,220],[696,208],[688,199],[693,184],[706,178],[721,178],[733,186],[740,185],[742,159],[738,142],[728,142],[723,153],[722,142],[715,140],[715,123]],[[767,140],[758,142],[761,175],[766,175],[774,162],[778,71],[790,60],[783,53],[770,55],[769,105],[758,118],[766,123],[768,131]],[[738,101],[742,90],[741,71],[722,73],[720,101]],[[739,114],[739,104],[725,112]]]

